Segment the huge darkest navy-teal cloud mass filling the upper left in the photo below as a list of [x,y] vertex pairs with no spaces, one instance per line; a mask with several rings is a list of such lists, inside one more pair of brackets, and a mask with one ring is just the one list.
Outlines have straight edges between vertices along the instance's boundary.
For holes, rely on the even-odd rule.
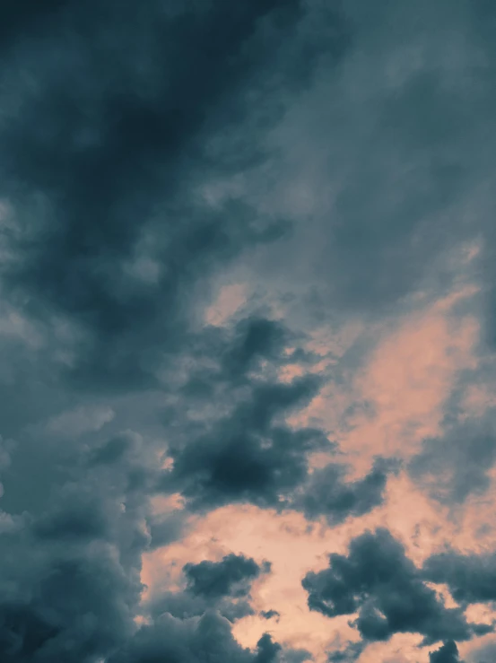
[[[17,228],[4,285],[30,315],[80,328],[80,383],[153,383],[159,348],[167,339],[170,352],[187,328],[195,285],[281,235],[277,220],[241,201],[214,210],[196,189],[205,173],[257,160],[281,99],[309,81],[311,67],[278,57],[304,12],[298,0],[38,12],[49,18],[22,22],[13,10],[4,52],[0,168]],[[303,42],[300,61],[316,52]],[[277,94],[248,108],[246,95],[274,77]],[[240,125],[247,141],[232,144],[225,136]]]

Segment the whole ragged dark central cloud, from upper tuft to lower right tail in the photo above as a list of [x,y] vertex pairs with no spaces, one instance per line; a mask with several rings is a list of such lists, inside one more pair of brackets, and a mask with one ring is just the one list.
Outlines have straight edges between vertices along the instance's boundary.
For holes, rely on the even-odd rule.
[[[324,516],[329,523],[382,504],[387,477],[399,467],[395,459],[376,458],[369,474],[354,481],[347,480],[351,468],[340,463],[309,473],[309,454],[333,452],[336,445],[318,429],[284,423],[322,383],[311,373],[289,383],[278,380],[295,353],[303,367],[318,361],[300,352],[299,341],[281,322],[259,316],[242,318],[231,330],[208,330],[199,339],[189,379],[178,389],[194,421],[167,413],[173,465],[163,475],[163,490],[180,491],[194,509],[252,502],[300,510],[309,519]],[[181,410],[177,404],[174,409]]]

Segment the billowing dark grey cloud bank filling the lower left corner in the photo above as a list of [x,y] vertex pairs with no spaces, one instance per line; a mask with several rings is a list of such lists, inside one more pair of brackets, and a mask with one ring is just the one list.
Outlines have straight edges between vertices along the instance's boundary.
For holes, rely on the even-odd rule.
[[[126,434],[139,446],[138,436]],[[134,632],[148,544],[146,493],[131,454],[113,467],[82,462],[39,517],[0,540],[2,658],[94,661]]]

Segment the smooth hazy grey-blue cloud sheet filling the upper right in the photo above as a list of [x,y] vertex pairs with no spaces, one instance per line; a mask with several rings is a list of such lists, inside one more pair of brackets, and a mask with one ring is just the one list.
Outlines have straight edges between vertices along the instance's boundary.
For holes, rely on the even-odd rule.
[[456,286],[449,252],[483,238],[474,278],[486,297],[496,89],[484,14],[492,25],[494,12],[466,0],[342,6],[350,57],[318,71],[274,137],[273,206],[297,227],[285,250],[265,252],[260,283],[274,279],[312,320],[380,318],[412,292]]

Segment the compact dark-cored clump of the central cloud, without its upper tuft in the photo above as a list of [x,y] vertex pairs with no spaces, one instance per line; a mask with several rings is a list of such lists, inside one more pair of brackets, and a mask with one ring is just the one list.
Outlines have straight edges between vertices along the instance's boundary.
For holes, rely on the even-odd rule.
[[166,476],[171,489],[184,484],[182,493],[199,507],[243,500],[276,505],[280,493],[305,477],[306,453],[322,446],[322,435],[278,426],[274,417],[301,404],[314,388],[313,379],[253,388],[248,401],[213,432],[184,449],[171,449],[174,465]]

